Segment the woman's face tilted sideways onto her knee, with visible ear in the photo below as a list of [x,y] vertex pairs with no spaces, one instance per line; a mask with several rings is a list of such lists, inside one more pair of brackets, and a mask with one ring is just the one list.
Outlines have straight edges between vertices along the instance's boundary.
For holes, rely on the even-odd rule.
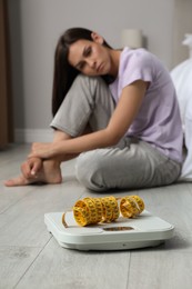
[[78,40],[69,48],[69,63],[85,76],[104,76],[111,71],[110,49],[104,47],[103,38],[92,33],[93,41]]

